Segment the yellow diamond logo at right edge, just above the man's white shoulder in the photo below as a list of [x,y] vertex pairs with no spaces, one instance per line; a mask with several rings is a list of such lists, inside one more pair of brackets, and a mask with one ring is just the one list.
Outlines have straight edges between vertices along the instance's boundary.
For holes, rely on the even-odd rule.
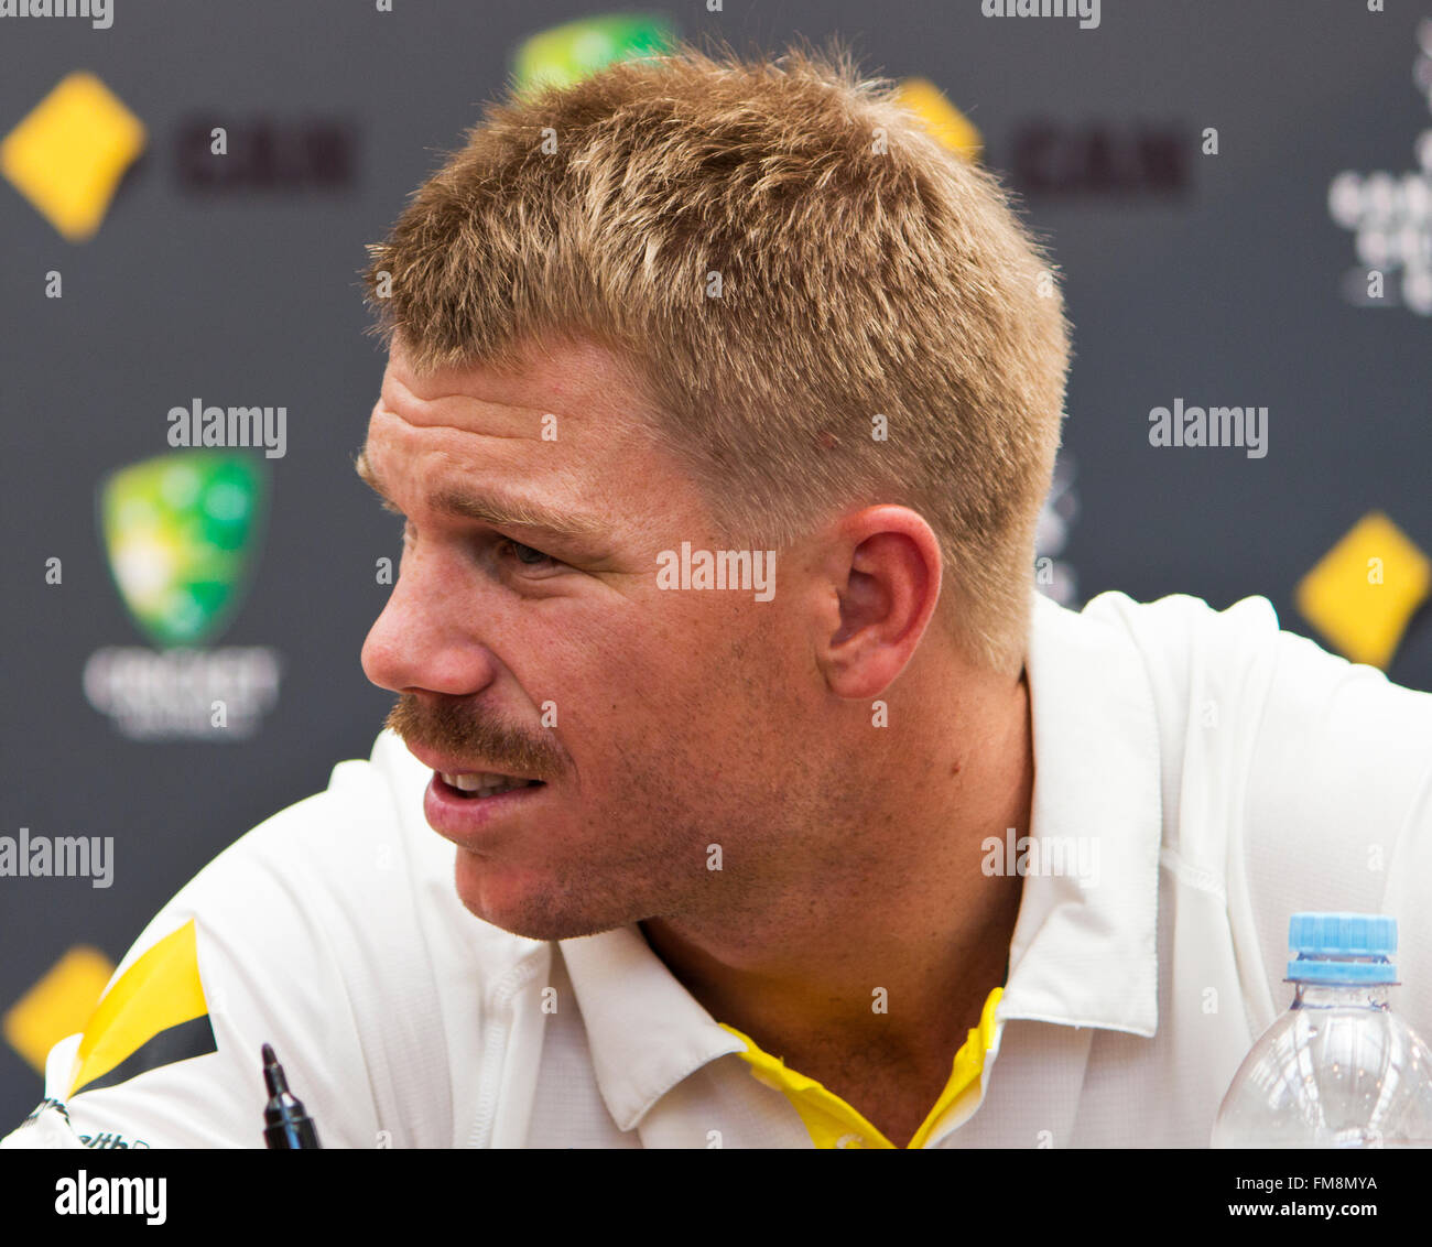
[[1429,583],[1428,557],[1372,511],[1299,581],[1293,598],[1343,657],[1386,667]]

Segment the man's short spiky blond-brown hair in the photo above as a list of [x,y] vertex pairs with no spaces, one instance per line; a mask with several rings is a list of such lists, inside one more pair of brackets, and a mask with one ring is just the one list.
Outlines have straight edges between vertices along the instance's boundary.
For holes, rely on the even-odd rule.
[[369,253],[377,329],[420,372],[511,369],[543,339],[616,352],[750,545],[851,507],[919,511],[951,634],[1020,671],[1063,301],[998,180],[849,53],[683,44],[510,94]]

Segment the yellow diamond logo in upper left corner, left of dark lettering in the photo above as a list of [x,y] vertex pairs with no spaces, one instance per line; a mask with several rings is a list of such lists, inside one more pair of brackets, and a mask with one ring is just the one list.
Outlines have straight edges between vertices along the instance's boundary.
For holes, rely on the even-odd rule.
[[72,73],[0,142],[0,173],[70,242],[95,235],[145,127],[92,73]]

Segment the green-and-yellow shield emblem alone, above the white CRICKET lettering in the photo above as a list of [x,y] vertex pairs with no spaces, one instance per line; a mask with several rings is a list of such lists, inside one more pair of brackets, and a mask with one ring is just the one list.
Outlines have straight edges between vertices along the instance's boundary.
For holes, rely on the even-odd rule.
[[99,491],[109,570],[156,646],[198,646],[233,614],[265,501],[263,465],[179,451],[113,472]]

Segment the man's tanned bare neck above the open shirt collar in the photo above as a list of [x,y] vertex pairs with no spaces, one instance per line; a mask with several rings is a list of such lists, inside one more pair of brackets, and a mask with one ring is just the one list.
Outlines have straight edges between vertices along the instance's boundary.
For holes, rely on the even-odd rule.
[[[955,739],[928,767],[886,779],[899,799],[846,838],[858,869],[813,865],[803,892],[737,909],[725,923],[642,923],[716,1021],[856,1108],[862,1085],[875,1084],[884,1100],[909,1087],[909,1104],[928,1108],[985,996],[1004,982],[1022,880],[988,876],[981,860],[987,838],[1004,843],[1008,828],[1030,835],[1027,680]],[[909,1108],[891,1115],[904,1121]]]

